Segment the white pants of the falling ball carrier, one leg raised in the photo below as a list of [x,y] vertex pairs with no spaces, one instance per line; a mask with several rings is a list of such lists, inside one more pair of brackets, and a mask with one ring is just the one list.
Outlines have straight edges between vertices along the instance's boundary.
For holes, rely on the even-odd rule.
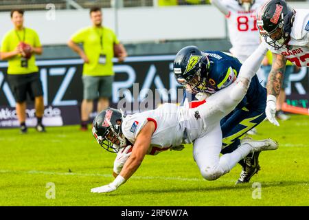
[[258,71],[267,49],[260,45],[251,56],[242,64],[240,73],[235,82],[207,98],[205,104],[189,109],[198,111],[203,124],[207,127],[204,135],[193,143],[193,156],[203,177],[207,180],[218,179],[236,166],[240,159],[251,152],[249,144],[243,144],[232,153],[220,157],[222,147],[222,132],[220,120],[229,114],[244,98],[249,88],[251,78]]

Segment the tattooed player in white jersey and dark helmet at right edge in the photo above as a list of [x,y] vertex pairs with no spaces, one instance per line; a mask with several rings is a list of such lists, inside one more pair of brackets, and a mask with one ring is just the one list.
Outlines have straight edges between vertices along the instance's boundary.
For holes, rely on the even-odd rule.
[[271,123],[279,126],[275,119],[276,101],[286,61],[298,67],[309,66],[309,10],[293,9],[283,0],[268,0],[258,12],[257,23],[263,41],[273,53],[265,113]]

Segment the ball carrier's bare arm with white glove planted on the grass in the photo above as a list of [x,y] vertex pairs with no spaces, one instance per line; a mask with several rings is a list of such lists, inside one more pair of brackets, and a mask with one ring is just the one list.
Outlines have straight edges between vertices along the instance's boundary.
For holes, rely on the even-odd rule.
[[112,192],[124,184],[124,182],[127,181],[133,175],[133,173],[135,173],[137,168],[139,168],[139,165],[141,165],[141,162],[143,161],[150,146],[152,133],[154,133],[154,131],[154,122],[147,122],[137,135],[132,153],[130,157],[128,157],[128,160],[124,164],[124,167],[122,168],[122,171],[119,173],[119,175],[117,175],[111,184],[92,188],[91,192]]

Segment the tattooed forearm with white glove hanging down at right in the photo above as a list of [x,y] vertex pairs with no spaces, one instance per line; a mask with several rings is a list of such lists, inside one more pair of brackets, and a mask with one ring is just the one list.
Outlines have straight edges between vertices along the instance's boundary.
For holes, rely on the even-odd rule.
[[277,97],[281,91],[282,82],[284,79],[284,72],[286,71],[286,58],[279,54],[273,53],[273,65],[271,72],[268,75],[267,88],[267,102],[266,102],[266,117],[269,122],[279,126],[275,118]]

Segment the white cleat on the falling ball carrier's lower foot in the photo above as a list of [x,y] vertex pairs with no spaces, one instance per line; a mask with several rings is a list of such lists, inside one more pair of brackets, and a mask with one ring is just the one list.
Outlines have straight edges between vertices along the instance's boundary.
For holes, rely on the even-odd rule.
[[273,151],[277,150],[277,148],[279,147],[278,143],[274,140],[271,140],[271,138],[267,138],[264,140],[253,140],[249,136],[242,138],[240,144],[249,144],[252,148],[252,152]]

